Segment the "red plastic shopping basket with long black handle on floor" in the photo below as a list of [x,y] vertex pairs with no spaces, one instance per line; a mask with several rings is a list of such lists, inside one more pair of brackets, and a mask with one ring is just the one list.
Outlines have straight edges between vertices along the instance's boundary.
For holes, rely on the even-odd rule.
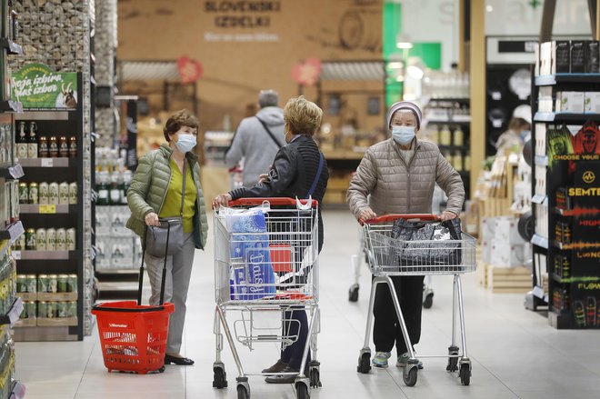
[[142,304],[144,285],[144,256],[138,281],[137,302],[118,301],[95,304],[92,314],[98,322],[98,334],[105,367],[108,372],[126,371],[137,374],[165,371],[166,338],[169,332],[169,317],[175,304],[163,303],[165,299],[166,251],[169,245],[171,226],[167,222],[165,264],[161,280],[160,304]]

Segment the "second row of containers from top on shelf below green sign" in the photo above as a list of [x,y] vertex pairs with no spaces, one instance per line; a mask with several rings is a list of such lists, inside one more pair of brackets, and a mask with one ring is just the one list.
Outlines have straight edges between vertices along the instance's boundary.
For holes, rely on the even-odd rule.
[[78,186],[73,183],[19,183],[19,204],[77,204]]

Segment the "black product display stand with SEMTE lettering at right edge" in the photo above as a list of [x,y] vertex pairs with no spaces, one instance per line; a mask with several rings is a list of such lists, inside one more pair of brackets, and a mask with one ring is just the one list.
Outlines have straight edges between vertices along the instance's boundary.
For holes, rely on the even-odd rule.
[[[597,92],[598,74],[535,77],[534,288],[525,306],[535,310],[547,304],[548,321],[555,328],[600,326],[600,114],[593,106]],[[565,93],[571,97],[565,99]],[[562,102],[555,100],[561,96]],[[557,112],[555,106],[571,106],[577,96],[582,112]]]

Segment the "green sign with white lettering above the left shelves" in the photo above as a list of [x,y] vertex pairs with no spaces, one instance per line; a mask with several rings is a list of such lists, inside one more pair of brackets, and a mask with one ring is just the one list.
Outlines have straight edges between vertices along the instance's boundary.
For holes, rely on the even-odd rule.
[[48,65],[29,64],[13,74],[13,98],[23,108],[76,108],[77,74],[55,72]]

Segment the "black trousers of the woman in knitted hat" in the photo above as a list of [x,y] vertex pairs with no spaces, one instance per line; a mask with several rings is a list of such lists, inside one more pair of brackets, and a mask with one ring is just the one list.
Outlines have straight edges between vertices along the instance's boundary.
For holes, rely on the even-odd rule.
[[[421,338],[421,313],[423,311],[423,275],[391,277],[400,308],[405,318],[406,329],[411,344],[418,344]],[[392,352],[400,356],[408,352],[402,328],[395,313],[394,302],[387,284],[378,284],[373,308],[373,342],[376,352]]]

